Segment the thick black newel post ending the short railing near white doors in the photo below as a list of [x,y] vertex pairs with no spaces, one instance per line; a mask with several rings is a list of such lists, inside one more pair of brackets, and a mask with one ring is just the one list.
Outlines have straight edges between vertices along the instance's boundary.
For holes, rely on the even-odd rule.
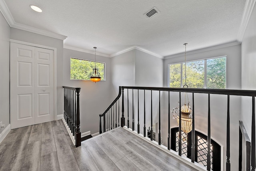
[[77,103],[76,103],[76,147],[81,146],[81,131],[80,131],[80,101],[79,101],[79,93],[81,88],[76,88],[76,96],[77,96]]

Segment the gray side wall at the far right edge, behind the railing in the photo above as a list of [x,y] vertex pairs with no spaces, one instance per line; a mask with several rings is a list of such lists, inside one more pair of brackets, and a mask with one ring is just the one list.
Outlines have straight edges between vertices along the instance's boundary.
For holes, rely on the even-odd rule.
[[[242,89],[256,89],[256,8],[251,14],[244,38],[242,40]],[[252,98],[242,98],[241,120],[249,137],[252,125]]]

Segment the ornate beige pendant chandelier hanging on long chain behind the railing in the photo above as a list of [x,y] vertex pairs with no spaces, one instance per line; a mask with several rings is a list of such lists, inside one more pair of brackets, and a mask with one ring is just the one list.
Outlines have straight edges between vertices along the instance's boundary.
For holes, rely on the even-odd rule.
[[[183,85],[183,88],[188,88],[187,85],[187,76],[186,76],[186,46],[185,45],[185,84]],[[184,98],[184,105],[181,107],[176,107],[172,110],[173,119],[176,119],[178,122],[178,125],[180,124],[180,117],[181,117],[181,130],[187,134],[192,130],[192,109],[190,107],[190,102],[188,100],[188,104],[186,104],[186,98],[188,99],[188,94],[185,92],[185,98]],[[179,102],[180,103],[180,102]],[[181,115],[180,115],[181,112]]]

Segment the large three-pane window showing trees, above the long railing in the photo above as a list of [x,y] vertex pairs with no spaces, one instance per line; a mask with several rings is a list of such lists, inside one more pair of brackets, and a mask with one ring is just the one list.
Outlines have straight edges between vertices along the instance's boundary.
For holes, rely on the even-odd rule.
[[[185,83],[186,68],[186,83]],[[169,65],[169,87],[226,88],[226,57]]]

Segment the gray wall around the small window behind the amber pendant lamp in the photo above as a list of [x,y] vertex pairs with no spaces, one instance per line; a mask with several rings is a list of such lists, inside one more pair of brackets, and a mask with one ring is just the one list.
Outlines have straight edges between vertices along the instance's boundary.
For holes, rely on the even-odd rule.
[[75,50],[63,50],[63,85],[81,87],[80,125],[81,132],[99,132],[99,114],[110,105],[110,58],[96,55],[96,61],[105,63],[105,80],[96,84],[91,81],[70,80],[70,57],[94,61],[94,54]]

